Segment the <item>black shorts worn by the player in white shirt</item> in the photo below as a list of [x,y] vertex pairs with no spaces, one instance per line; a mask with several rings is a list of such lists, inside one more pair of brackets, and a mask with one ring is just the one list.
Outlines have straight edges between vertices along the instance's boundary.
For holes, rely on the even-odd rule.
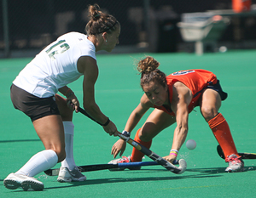
[[60,115],[55,97],[39,98],[12,84],[10,97],[15,109],[21,110],[33,121],[50,115]]

